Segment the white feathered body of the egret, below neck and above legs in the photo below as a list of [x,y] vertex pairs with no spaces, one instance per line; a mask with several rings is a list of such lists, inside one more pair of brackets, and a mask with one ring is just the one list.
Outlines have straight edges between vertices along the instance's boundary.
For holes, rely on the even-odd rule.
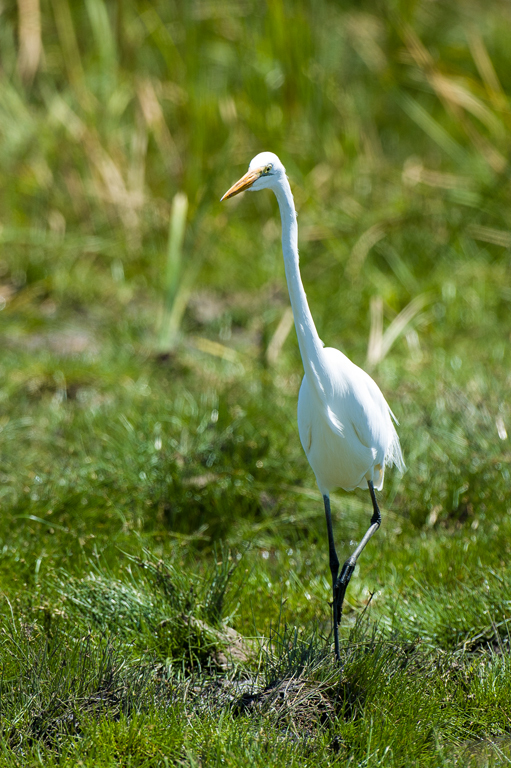
[[[385,466],[404,469],[392,412],[373,379],[333,348],[322,350],[315,382],[304,376],[298,430],[322,493],[381,489]],[[318,391],[317,381],[322,391]]]

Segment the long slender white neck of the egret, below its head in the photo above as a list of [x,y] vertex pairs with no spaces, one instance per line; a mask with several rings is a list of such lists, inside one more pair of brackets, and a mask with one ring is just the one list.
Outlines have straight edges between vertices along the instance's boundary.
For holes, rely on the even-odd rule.
[[305,375],[316,391],[323,390],[319,372],[322,368],[323,342],[318,336],[307,296],[303,289],[298,261],[298,224],[293,194],[287,177],[275,188],[282,220],[282,252],[286,269],[287,287],[295,320],[296,335],[302,356]]

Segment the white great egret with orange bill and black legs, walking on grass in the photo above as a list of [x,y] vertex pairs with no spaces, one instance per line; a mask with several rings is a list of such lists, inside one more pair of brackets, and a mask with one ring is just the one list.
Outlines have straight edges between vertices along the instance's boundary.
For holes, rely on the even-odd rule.
[[[404,470],[399,438],[390,410],[377,384],[338,349],[324,347],[307,303],[298,262],[298,226],[286,170],[272,152],[261,152],[248,172],[222,197],[244,190],[272,189],[282,220],[282,251],[291,308],[305,375],[298,396],[298,432],[323,496],[333,590],[335,655],[346,588],[356,562],[381,524],[374,489],[383,487],[386,465]],[[339,575],[330,511],[330,492],[369,486],[373,516],[369,528]]]

